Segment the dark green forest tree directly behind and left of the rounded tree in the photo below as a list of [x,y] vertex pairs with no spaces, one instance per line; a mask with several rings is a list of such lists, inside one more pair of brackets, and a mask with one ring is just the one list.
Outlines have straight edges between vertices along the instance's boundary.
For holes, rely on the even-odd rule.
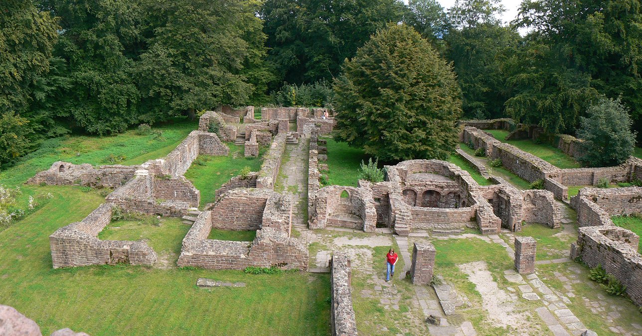
[[338,75],[377,29],[403,16],[399,0],[266,0],[261,10],[277,80],[313,83]]

